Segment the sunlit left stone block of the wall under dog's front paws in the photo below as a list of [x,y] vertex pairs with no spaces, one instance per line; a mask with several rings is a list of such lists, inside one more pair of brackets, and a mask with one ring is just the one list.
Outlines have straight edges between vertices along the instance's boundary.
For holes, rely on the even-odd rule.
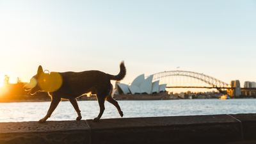
[[89,143],[86,122],[48,121],[0,123],[0,143]]

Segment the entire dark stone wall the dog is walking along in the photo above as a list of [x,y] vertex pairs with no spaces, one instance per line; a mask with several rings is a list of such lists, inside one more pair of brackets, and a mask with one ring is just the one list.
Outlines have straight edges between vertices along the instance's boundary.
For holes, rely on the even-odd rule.
[[256,143],[256,114],[0,123],[0,143]]

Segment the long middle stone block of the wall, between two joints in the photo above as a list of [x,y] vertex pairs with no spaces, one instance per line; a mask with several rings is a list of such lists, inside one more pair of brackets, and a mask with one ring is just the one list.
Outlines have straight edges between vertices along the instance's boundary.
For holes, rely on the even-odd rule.
[[86,120],[91,143],[227,143],[241,141],[240,123],[228,115]]

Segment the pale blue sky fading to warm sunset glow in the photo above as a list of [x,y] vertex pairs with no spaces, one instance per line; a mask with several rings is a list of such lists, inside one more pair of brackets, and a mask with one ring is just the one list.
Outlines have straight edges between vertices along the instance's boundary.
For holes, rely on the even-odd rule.
[[255,54],[256,1],[0,0],[0,84],[29,82],[39,65],[115,75],[124,60],[125,84],[180,67],[243,87]]

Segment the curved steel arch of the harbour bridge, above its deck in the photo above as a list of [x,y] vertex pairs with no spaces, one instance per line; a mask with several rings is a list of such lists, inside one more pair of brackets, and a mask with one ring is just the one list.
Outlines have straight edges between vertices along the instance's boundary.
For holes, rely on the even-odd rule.
[[[223,81],[220,81],[214,77],[207,76],[205,74],[198,73],[198,72],[189,72],[189,71],[184,71],[184,70],[164,71],[164,72],[159,72],[159,73],[156,73],[153,75],[154,75],[153,82],[158,81],[158,80],[161,81],[163,79],[165,79],[165,81],[168,81],[168,78],[170,79],[170,77],[176,77],[176,79],[179,77],[191,77],[193,79],[198,79],[198,81],[202,81],[206,84],[209,84],[212,87],[227,88],[229,85],[229,84],[227,84]],[[170,84],[167,83],[167,86],[170,86]]]

